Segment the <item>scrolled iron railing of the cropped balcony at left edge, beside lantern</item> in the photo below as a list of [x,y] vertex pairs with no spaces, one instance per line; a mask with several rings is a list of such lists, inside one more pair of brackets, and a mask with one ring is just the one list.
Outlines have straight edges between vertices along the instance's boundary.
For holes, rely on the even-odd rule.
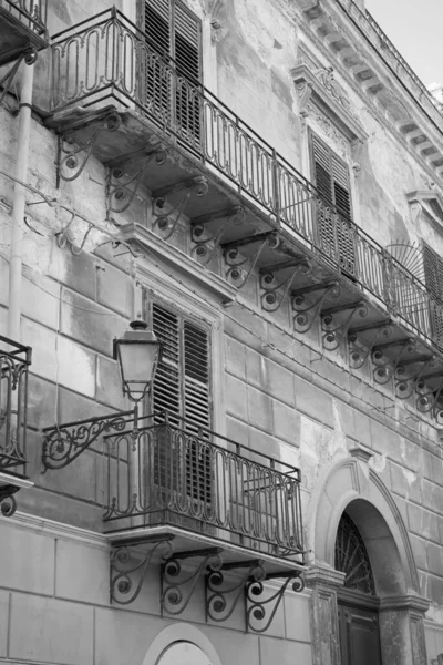
[[0,471],[23,475],[30,365],[30,347],[0,336]]

